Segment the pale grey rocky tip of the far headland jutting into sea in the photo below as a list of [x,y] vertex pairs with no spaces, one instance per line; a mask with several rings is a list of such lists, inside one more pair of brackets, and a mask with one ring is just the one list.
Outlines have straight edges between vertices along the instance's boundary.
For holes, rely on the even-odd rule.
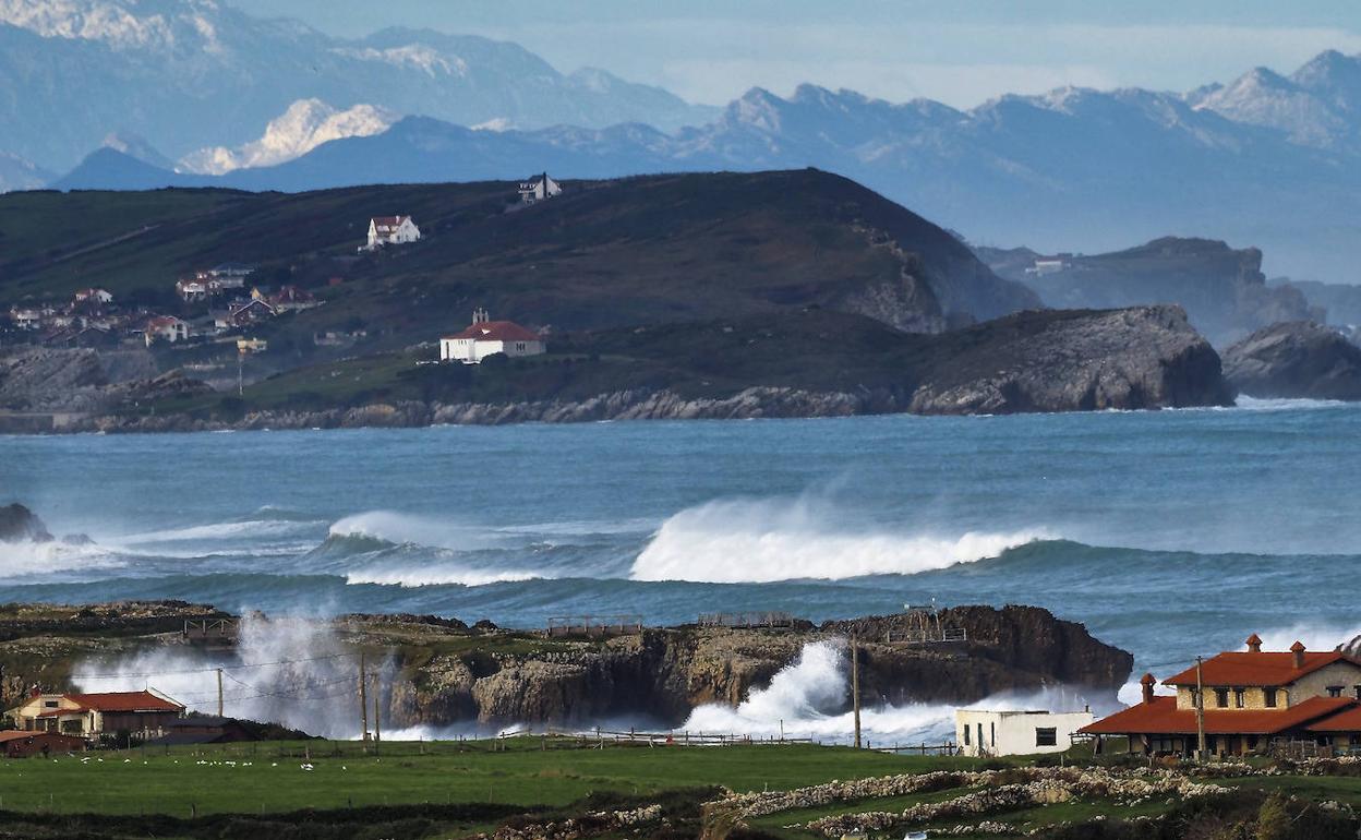
[[1180,306],[1023,312],[940,336],[930,351],[908,407],[915,414],[1233,402],[1218,354]]

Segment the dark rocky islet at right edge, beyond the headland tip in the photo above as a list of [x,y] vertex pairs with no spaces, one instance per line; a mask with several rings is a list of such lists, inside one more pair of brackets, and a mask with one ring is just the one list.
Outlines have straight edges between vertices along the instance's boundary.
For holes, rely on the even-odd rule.
[[1313,321],[1253,332],[1225,351],[1224,372],[1249,396],[1361,400],[1361,347]]

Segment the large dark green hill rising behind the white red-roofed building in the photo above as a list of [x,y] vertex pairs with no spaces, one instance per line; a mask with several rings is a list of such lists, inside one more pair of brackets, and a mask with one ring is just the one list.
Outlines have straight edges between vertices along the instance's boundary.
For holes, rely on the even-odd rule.
[[[177,276],[256,263],[256,282],[327,301],[279,329],[362,325],[372,350],[461,328],[474,306],[561,332],[806,305],[935,331],[1037,305],[945,230],[817,170],[568,182],[523,210],[514,199],[509,182],[5,195],[0,302],[102,286],[173,305]],[[369,218],[392,214],[425,238],[355,253]]]

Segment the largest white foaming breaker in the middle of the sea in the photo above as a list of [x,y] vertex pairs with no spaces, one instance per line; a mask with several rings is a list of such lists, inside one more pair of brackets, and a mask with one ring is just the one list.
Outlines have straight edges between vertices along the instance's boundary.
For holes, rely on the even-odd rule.
[[633,564],[633,580],[768,583],[913,575],[996,557],[1043,530],[894,534],[852,530],[807,498],[713,501],[676,513]]

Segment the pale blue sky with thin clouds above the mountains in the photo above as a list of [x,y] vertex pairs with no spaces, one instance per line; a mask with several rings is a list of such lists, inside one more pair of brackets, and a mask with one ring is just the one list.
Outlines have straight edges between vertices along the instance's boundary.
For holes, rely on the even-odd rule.
[[972,108],[1066,84],[1184,91],[1324,49],[1361,53],[1357,0],[229,0],[342,37],[388,26],[514,41],[691,101],[847,87]]

